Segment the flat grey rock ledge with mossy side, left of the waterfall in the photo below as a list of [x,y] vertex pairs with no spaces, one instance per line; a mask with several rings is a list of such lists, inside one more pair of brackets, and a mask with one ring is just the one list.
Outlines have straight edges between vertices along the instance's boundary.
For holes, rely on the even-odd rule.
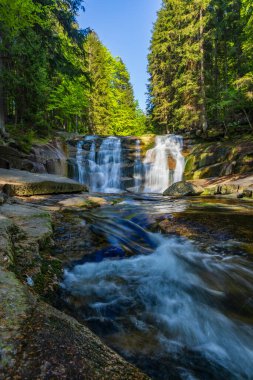
[[16,169],[0,169],[0,189],[9,196],[79,193],[86,186],[53,174],[35,174]]

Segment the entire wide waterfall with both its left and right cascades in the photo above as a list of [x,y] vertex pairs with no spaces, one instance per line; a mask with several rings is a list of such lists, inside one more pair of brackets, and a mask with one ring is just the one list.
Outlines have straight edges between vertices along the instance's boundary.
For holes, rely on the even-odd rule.
[[181,136],[157,136],[155,147],[147,151],[143,162],[141,141],[135,140],[134,150],[130,144],[132,140],[124,137],[86,136],[77,143],[76,180],[90,191],[103,193],[124,189],[162,193],[182,180],[185,163]]

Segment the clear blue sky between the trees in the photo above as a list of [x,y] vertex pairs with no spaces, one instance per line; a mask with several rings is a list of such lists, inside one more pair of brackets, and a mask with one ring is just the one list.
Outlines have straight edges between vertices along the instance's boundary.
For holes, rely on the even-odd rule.
[[146,108],[147,54],[161,0],[84,0],[81,28],[94,29],[114,56],[120,56],[131,75],[135,97]]

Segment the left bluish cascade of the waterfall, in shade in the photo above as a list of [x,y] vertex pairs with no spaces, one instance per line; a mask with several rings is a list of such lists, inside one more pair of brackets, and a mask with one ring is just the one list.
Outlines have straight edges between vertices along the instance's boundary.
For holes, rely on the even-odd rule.
[[[84,150],[85,143],[89,144],[88,155]],[[121,140],[117,137],[108,137],[103,139],[99,148],[98,145],[99,140],[96,136],[87,136],[84,141],[78,142],[77,179],[88,185],[91,191],[119,192],[121,189]]]

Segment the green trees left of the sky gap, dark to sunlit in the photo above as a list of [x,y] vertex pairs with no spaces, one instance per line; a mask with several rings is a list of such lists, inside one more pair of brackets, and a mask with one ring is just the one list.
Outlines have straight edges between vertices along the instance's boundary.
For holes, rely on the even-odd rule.
[[82,0],[0,0],[0,128],[141,134],[126,66],[80,30]]

